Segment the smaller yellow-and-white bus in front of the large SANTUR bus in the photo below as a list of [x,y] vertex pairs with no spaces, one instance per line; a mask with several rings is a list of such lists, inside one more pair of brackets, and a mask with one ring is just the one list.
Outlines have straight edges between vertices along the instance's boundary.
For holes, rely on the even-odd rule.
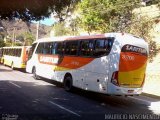
[[2,47],[1,63],[14,68],[25,68],[31,46]]

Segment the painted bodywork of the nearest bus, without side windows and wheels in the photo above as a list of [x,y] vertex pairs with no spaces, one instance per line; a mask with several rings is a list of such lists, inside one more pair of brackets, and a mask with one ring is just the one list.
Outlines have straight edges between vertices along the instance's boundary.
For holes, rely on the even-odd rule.
[[[38,44],[45,40],[37,41],[26,71],[32,73],[33,67],[36,67],[37,75],[59,82],[63,82],[66,73],[69,73],[73,86],[85,90],[115,95],[140,94],[148,55],[147,43],[133,35],[121,33],[109,33],[104,37],[115,39],[109,54],[101,57],[36,54]],[[47,39],[47,42],[54,41]],[[118,85],[112,83],[113,73],[118,73]]]

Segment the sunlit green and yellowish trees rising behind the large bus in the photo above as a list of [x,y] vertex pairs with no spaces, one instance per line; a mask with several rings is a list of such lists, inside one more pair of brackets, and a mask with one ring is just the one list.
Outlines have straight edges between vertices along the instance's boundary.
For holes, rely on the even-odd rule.
[[[152,0],[148,6],[157,4]],[[144,7],[141,0],[83,0],[74,5],[74,10],[65,21],[57,21],[53,25],[54,35],[80,35],[107,32],[126,32],[145,39],[149,43],[149,61],[160,51],[150,31],[160,19],[160,15],[148,18],[135,9]],[[57,27],[58,26],[58,27]]]

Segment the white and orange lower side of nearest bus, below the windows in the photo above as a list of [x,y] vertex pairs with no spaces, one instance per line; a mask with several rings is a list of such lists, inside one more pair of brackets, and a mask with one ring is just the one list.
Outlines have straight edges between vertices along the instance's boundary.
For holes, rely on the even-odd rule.
[[27,67],[28,71],[31,71],[31,68],[35,66],[37,75],[59,82],[63,82],[66,73],[70,73],[75,87],[106,93],[109,80],[108,56],[95,59],[37,54],[35,61],[37,61],[35,65]]

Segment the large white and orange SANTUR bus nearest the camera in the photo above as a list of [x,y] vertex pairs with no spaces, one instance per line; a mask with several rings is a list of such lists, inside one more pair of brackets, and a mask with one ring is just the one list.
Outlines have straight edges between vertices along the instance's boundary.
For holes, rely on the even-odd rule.
[[111,95],[139,95],[147,65],[148,44],[127,33],[55,37],[33,43],[26,71],[34,77]]

